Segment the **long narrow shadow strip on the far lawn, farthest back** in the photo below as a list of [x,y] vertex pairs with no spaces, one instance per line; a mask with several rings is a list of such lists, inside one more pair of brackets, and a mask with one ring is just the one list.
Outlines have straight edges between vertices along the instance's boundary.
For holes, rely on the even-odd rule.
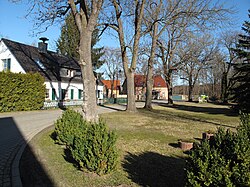
[[185,111],[190,111],[190,112],[202,112],[202,113],[207,113],[207,114],[223,114],[225,116],[238,116],[238,112],[230,109],[229,106],[228,108],[213,108],[213,107],[204,107],[202,104],[201,106],[187,106],[183,104],[174,104],[174,105],[168,105],[164,103],[160,103],[159,106],[163,107],[169,107],[169,108],[174,108],[176,110],[185,110]]

